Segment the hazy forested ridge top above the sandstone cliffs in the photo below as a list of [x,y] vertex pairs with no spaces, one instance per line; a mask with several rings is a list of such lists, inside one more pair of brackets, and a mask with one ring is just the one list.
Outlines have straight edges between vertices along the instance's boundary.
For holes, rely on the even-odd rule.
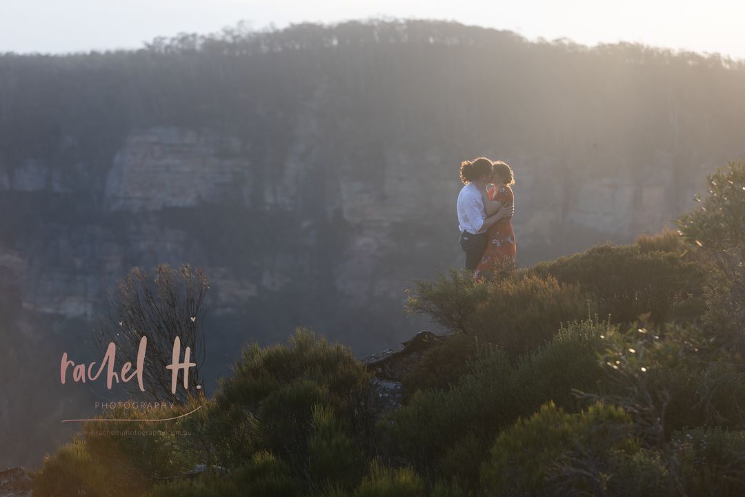
[[[639,174],[650,148],[701,158],[729,148],[745,105],[743,61],[629,43],[527,42],[431,21],[235,28],[137,51],[4,54],[0,75],[5,171],[37,159],[63,169],[80,193],[101,186],[133,127],[228,128],[272,155],[264,172],[279,175],[292,120],[325,87],[321,125],[364,129],[358,140],[405,129],[411,141],[450,151],[443,160],[484,141],[567,162],[603,144],[637,162]],[[329,147],[323,158],[348,157],[358,144]],[[603,163],[592,171],[603,174]]]

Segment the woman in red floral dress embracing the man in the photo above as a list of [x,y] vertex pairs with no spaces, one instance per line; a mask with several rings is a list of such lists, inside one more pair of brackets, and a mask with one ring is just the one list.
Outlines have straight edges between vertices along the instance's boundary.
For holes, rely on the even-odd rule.
[[[487,216],[496,212],[501,206],[515,201],[512,188],[510,188],[510,185],[515,184],[510,166],[498,160],[492,166],[492,174],[491,183],[494,183],[495,187],[484,192],[484,209],[486,209]],[[516,259],[515,232],[510,219],[500,219],[489,227],[487,238],[489,244],[486,245],[486,252],[473,274],[474,278],[484,279],[498,268]]]

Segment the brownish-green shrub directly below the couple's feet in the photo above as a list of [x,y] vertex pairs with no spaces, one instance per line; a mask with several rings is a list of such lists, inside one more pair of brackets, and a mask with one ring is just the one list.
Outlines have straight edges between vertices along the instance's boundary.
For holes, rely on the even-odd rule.
[[522,270],[498,280],[475,282],[469,273],[451,271],[437,283],[416,282],[408,310],[481,341],[501,346],[516,356],[550,340],[565,321],[587,314],[579,288]]

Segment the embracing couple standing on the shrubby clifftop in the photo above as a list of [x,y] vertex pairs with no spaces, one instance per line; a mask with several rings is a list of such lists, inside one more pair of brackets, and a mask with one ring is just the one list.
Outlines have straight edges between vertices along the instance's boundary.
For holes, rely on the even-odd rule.
[[466,269],[476,279],[484,278],[516,258],[513,171],[501,161],[486,157],[460,164],[463,189],[457,200],[460,247],[466,254]]

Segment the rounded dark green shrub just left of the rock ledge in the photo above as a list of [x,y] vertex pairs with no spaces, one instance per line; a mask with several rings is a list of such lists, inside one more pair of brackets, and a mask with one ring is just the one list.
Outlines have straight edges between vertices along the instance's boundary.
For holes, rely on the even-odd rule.
[[255,435],[246,438],[242,425],[221,421],[226,453],[235,463],[267,449],[285,458],[297,474],[308,473],[308,437],[314,405],[329,405],[358,442],[365,444],[372,420],[367,410],[370,373],[340,344],[330,345],[307,329],[297,329],[288,346],[250,344],[221,380],[215,395],[217,415],[243,421]]

